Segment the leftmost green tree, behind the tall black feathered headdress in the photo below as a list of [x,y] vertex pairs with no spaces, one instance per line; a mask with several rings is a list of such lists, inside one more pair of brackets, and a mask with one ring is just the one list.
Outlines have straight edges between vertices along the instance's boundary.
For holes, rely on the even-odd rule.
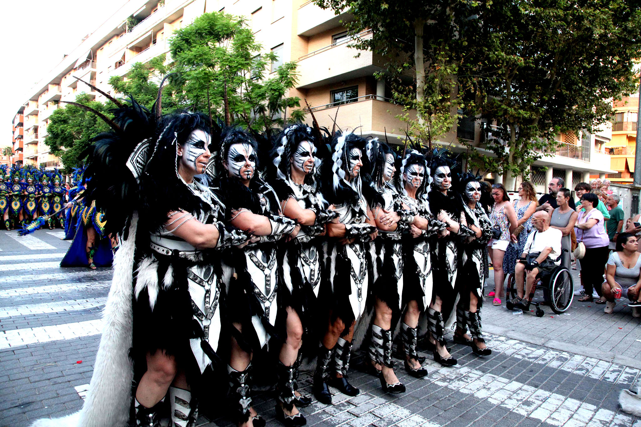
[[[92,101],[86,93],[80,93],[75,102],[112,118],[108,112],[110,106]],[[52,154],[60,157],[64,168],[69,170],[81,163],[80,154],[91,145],[90,140],[109,129],[109,126],[94,113],[69,104],[65,108],[56,109],[49,116],[44,143],[51,149]]]

